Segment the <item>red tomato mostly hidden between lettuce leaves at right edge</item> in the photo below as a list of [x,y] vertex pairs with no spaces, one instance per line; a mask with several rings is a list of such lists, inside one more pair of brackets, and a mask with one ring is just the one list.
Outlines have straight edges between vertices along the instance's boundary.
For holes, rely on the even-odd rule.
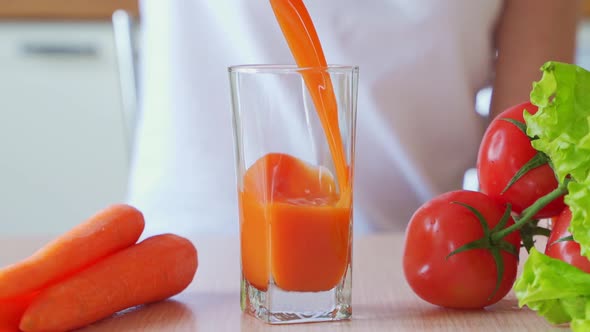
[[547,246],[545,247],[545,254],[549,257],[561,259],[562,261],[590,273],[590,261],[580,255],[580,245],[575,241],[561,241],[557,240],[570,236],[571,233],[567,230],[572,220],[572,212],[569,208],[563,210],[558,218],[553,219],[553,229]]

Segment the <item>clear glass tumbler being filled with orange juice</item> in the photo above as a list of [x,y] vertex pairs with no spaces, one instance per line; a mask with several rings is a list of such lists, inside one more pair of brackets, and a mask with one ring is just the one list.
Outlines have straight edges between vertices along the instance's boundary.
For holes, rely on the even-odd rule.
[[349,319],[358,67],[229,76],[242,310],[273,324]]

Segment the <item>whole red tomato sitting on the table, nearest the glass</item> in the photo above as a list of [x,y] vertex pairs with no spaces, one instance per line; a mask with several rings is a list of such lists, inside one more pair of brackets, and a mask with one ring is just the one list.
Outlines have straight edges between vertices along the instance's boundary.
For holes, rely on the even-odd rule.
[[[501,251],[504,262],[500,288],[496,286],[496,263],[489,250],[473,249],[457,253],[455,249],[481,238],[483,228],[473,212],[453,202],[462,202],[478,210],[492,229],[501,219],[504,207],[489,196],[474,191],[453,191],[422,205],[406,229],[403,269],[412,290],[423,300],[449,308],[483,308],[502,299],[516,278],[518,258]],[[514,223],[512,218],[507,226]],[[518,251],[520,235],[505,240]]]

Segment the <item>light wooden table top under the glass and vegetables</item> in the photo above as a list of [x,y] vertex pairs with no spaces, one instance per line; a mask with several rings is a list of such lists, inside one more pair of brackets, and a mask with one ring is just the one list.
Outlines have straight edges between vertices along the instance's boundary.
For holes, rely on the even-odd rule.
[[[194,237],[199,269],[191,286],[171,300],[134,308],[82,331],[564,331],[527,309],[513,294],[487,310],[432,306],[410,290],[401,271],[402,234],[356,238],[353,319],[266,325],[240,311],[237,237]],[[0,266],[32,253],[47,239],[0,236]]]

